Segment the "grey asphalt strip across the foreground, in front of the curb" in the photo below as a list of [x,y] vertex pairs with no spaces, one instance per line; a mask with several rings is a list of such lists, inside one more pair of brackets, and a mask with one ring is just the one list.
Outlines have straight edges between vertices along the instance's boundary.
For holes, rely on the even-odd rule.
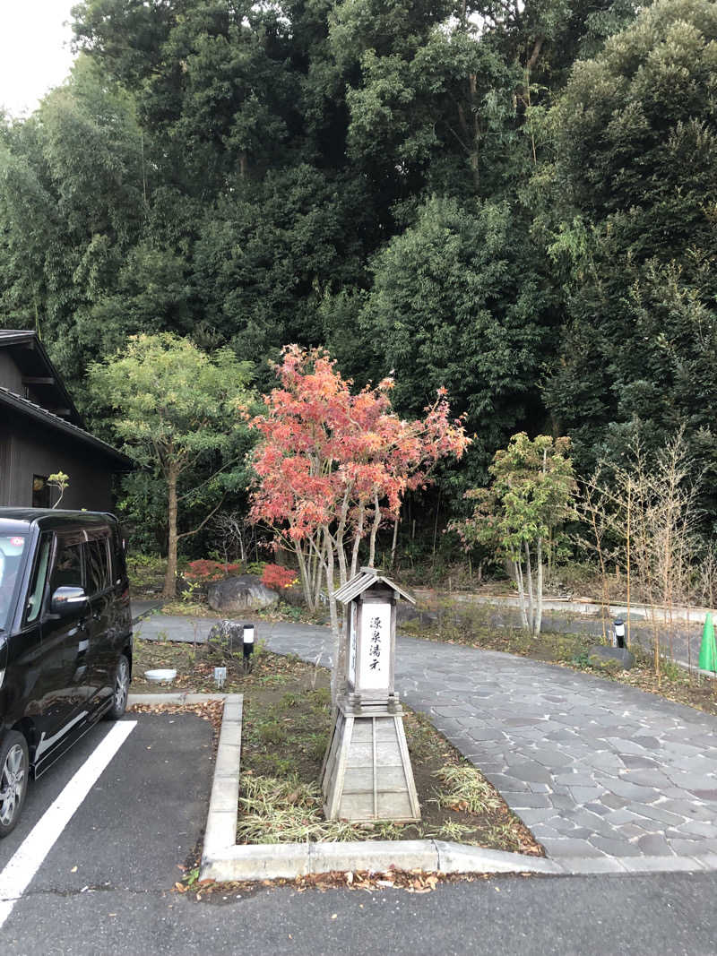
[[108,890],[32,894],[0,947],[12,956],[714,956],[715,874],[498,877],[402,890],[239,899]]

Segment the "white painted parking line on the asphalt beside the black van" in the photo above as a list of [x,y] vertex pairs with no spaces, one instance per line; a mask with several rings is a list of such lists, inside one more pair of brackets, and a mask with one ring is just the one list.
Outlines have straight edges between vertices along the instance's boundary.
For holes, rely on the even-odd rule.
[[50,853],[57,837],[72,819],[99,774],[137,727],[137,721],[121,721],[99,742],[72,780],[59,794],[25,837],[14,856],[0,873],[0,927],[8,919],[12,907],[28,888],[30,881]]

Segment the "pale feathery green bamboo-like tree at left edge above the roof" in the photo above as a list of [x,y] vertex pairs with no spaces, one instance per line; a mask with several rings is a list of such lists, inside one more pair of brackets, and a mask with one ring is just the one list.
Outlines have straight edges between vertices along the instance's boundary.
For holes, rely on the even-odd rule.
[[35,327],[76,378],[100,338],[84,335],[93,306],[114,290],[143,225],[132,98],[80,57],[67,84],[0,139],[0,184],[4,319]]

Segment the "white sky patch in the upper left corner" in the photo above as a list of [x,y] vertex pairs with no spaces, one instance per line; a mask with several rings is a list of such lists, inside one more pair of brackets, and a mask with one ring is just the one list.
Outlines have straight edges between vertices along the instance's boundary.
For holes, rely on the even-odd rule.
[[0,105],[32,112],[70,72],[70,10],[76,0],[0,0]]

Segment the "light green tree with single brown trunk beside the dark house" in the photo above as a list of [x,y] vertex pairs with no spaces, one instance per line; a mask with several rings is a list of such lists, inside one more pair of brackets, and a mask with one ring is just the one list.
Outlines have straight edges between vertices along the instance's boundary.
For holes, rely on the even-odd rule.
[[[207,356],[188,339],[168,333],[130,337],[116,356],[89,370],[96,401],[115,414],[112,427],[125,452],[157,473],[166,489],[168,554],[164,597],[176,593],[177,545],[199,532],[219,509],[228,489],[246,485],[244,452],[250,442],[239,424],[237,402],[247,402],[250,365],[223,348]],[[203,489],[183,480],[202,463]],[[180,503],[187,495],[206,504],[205,516],[179,532]]]

